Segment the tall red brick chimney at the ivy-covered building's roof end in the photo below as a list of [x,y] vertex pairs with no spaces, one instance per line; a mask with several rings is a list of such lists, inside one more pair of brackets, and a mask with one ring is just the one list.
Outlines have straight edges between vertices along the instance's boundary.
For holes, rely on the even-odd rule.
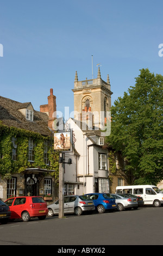
[[48,104],[40,105],[40,112],[47,113],[49,116],[48,127],[51,130],[53,130],[53,121],[56,119],[56,111],[56,96],[53,95],[53,89],[51,88],[50,95],[48,96]]

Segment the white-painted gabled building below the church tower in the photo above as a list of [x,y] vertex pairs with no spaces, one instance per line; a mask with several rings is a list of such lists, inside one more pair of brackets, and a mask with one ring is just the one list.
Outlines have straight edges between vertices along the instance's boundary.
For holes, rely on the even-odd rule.
[[[65,153],[72,164],[65,164],[65,194],[85,194],[109,192],[108,149],[104,148],[104,138],[99,131],[82,131],[78,120],[69,119],[73,130],[73,152]],[[66,125],[67,126],[67,125]]]

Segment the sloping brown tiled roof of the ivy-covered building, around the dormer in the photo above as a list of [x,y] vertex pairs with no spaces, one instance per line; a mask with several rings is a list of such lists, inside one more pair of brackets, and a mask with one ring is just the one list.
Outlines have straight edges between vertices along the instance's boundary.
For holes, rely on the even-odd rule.
[[33,113],[33,121],[27,120],[18,109],[26,108],[30,102],[21,103],[0,96],[0,120],[9,127],[38,132],[43,136],[50,136],[48,129],[48,115],[39,111]]

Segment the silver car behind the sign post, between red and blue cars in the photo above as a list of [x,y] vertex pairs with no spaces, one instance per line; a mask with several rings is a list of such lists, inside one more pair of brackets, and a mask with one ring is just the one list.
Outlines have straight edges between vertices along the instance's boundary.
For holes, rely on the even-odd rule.
[[[48,216],[52,217],[55,214],[59,214],[59,200],[53,204],[49,204]],[[64,213],[65,214],[76,214],[81,215],[83,211],[93,211],[95,210],[95,205],[93,200],[87,198],[86,196],[65,196],[64,197]]]

